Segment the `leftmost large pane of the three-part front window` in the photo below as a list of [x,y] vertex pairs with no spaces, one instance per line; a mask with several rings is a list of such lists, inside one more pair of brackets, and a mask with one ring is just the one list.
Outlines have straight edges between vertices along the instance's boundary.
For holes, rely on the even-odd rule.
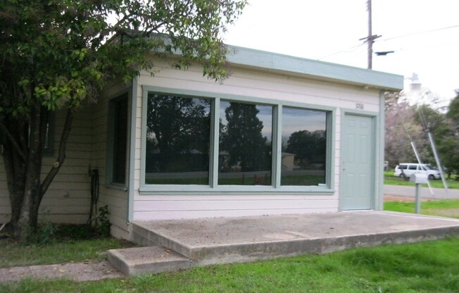
[[208,185],[210,100],[149,94],[146,184]]

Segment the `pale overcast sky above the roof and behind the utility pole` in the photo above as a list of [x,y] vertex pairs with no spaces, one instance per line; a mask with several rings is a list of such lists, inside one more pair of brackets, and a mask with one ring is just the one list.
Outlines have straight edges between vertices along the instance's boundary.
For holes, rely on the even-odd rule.
[[[459,1],[372,0],[372,69],[411,77],[440,100],[459,89]],[[367,0],[249,0],[226,44],[367,68]]]

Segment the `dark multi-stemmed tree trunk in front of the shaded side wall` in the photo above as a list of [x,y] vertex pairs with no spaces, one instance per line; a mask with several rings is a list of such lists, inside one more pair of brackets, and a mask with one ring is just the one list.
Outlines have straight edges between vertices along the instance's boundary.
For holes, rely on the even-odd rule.
[[58,149],[58,158],[41,181],[42,158],[49,111],[37,104],[25,118],[6,120],[0,128],[6,134],[4,164],[11,204],[9,227],[13,237],[24,242],[37,228],[39,207],[49,185],[65,160],[65,149],[73,122],[68,109]]

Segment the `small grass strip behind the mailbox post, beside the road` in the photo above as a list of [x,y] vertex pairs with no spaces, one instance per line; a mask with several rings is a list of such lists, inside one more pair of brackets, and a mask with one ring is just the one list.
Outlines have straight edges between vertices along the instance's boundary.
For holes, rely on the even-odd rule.
[[[384,203],[384,211],[399,211],[402,213],[414,213],[414,202],[387,201]],[[455,213],[450,213],[455,211]],[[429,216],[446,216],[459,218],[459,199],[443,199],[435,201],[422,201],[421,213]]]

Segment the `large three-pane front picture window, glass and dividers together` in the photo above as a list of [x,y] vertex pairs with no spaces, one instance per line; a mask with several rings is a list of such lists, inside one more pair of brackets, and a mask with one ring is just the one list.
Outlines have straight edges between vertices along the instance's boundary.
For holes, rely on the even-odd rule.
[[141,190],[329,192],[333,110],[247,100],[146,90]]

